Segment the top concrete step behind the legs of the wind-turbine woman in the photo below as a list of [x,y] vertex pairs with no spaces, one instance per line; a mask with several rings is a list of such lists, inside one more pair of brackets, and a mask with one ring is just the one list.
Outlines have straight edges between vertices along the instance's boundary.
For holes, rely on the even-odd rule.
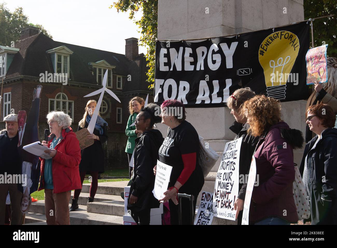
[[[127,186],[128,183],[129,181],[98,183],[96,194],[121,195],[121,192],[124,192],[124,187]],[[89,192],[90,184],[83,184],[82,193]]]

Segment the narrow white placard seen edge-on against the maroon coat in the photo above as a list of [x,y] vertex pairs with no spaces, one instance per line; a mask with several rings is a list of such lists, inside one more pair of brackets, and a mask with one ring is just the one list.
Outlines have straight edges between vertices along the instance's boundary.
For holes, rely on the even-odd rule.
[[248,217],[249,217],[249,207],[250,207],[250,199],[252,197],[253,187],[255,184],[255,176],[256,176],[256,163],[254,156],[252,157],[252,162],[250,164],[249,175],[248,175],[248,183],[245,195],[245,203],[243,204],[243,213],[242,213],[242,222],[241,225],[248,225]]

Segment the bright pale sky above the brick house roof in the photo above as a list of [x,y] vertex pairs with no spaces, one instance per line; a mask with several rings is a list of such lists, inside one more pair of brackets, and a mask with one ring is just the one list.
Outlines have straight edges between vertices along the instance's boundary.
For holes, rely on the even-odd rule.
[[[0,0],[13,12],[22,7],[29,22],[41,24],[59,42],[125,54],[125,39],[140,38],[129,13],[109,6],[116,0]],[[137,13],[140,19],[142,13]],[[145,47],[139,53],[146,54]]]

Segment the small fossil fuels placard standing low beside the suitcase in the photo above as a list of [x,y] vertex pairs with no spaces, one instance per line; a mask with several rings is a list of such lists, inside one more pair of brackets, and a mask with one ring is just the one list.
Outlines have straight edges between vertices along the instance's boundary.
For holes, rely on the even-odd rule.
[[203,191],[201,193],[200,207],[194,225],[211,225],[213,220],[213,193]]

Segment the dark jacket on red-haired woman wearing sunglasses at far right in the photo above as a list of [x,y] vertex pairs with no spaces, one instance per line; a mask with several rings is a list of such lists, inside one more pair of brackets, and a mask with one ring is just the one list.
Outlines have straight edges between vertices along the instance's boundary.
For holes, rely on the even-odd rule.
[[[306,144],[300,172],[303,176],[307,157],[308,177],[311,185],[311,224],[337,224],[337,129],[328,128],[311,150],[318,136]],[[325,181],[325,182],[324,182]],[[310,221],[310,220],[309,220]]]

